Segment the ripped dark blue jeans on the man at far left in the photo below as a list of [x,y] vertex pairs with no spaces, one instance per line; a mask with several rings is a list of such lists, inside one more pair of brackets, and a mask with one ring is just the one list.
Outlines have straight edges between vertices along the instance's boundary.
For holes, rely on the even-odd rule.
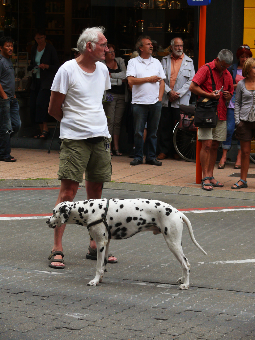
[[11,153],[10,137],[20,129],[19,104],[16,98],[0,99],[0,157]]

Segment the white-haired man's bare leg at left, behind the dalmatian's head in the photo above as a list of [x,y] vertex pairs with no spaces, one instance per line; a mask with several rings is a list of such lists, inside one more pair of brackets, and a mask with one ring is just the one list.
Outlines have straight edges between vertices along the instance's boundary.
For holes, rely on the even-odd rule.
[[[57,202],[56,205],[65,202],[65,201],[70,201],[72,202],[77,190],[79,188],[79,183],[74,182],[68,179],[62,179],[61,180],[61,186],[60,186],[60,192],[58,194]],[[57,250],[60,250],[63,252],[63,247],[62,247],[62,237],[65,231],[66,224],[63,224],[61,227],[55,228],[54,229],[54,245],[52,248],[52,252],[55,252]],[[61,255],[56,255],[54,256],[55,259],[62,259]],[[63,263],[61,262],[51,262],[52,266],[64,266]]]

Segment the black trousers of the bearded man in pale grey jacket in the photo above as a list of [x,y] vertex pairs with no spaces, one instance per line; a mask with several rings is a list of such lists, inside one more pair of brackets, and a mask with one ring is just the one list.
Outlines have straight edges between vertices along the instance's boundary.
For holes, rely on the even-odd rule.
[[168,156],[173,156],[176,153],[173,146],[173,129],[179,119],[180,108],[171,107],[171,102],[168,102],[168,107],[162,106],[159,138],[160,153]]

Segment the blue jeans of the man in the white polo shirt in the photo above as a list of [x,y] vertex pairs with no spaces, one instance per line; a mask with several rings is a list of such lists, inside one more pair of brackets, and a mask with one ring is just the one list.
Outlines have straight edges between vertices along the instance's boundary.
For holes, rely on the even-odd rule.
[[143,131],[147,122],[147,137],[145,143],[146,160],[156,158],[157,129],[161,115],[161,102],[143,105],[132,104],[135,130],[135,153],[134,159],[143,160]]

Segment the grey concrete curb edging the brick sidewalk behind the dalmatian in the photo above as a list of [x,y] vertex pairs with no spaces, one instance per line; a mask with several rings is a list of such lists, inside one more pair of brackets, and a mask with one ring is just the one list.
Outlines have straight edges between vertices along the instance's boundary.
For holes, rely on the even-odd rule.
[[[85,181],[80,185],[85,187]],[[0,181],[0,188],[31,188],[31,187],[60,187],[60,181],[45,179],[45,180],[4,180]],[[193,196],[205,196],[205,197],[219,197],[219,198],[233,198],[241,200],[255,200],[255,193],[253,192],[241,192],[237,190],[228,191],[220,190],[219,188],[212,191],[201,190],[198,188],[178,187],[178,186],[166,186],[166,185],[147,185],[147,184],[134,184],[134,183],[118,183],[107,182],[104,184],[105,189],[112,190],[130,190],[130,191],[142,191],[142,192],[157,192],[157,193],[169,193],[169,194],[181,194],[181,195],[193,195]]]

